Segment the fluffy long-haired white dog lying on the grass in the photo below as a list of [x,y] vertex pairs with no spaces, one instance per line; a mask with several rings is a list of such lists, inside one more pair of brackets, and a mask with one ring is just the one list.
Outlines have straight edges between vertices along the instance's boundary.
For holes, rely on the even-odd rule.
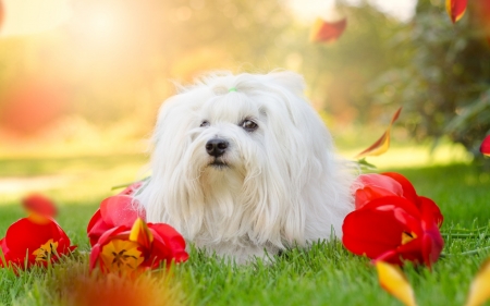
[[210,74],[162,106],[149,222],[246,262],[342,234],[352,175],[292,72]]

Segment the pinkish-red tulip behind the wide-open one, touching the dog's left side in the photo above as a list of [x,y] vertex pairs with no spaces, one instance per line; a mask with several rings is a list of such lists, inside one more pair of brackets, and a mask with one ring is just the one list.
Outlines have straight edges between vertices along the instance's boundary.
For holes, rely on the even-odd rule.
[[140,184],[139,182],[135,183],[119,195],[102,200],[100,208],[91,217],[87,227],[87,234],[91,246],[110,229],[121,225],[131,229],[138,217],[146,220],[145,210],[137,209],[137,203],[135,203],[132,196]]

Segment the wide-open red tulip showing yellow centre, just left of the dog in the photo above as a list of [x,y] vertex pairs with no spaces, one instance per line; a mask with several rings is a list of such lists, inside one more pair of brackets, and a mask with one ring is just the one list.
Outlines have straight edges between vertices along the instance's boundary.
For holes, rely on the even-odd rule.
[[187,260],[185,241],[168,224],[146,224],[137,218],[131,230],[121,225],[105,232],[90,253],[90,270],[133,274],[158,268],[162,261]]

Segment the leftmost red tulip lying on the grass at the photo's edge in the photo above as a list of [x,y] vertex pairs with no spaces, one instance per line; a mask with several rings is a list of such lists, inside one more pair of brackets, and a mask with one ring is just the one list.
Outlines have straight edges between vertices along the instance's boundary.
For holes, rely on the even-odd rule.
[[76,246],[70,245],[70,238],[51,218],[29,217],[9,227],[5,236],[0,240],[0,248],[5,258],[5,262],[0,260],[0,267],[15,265],[27,268],[54,262]]

